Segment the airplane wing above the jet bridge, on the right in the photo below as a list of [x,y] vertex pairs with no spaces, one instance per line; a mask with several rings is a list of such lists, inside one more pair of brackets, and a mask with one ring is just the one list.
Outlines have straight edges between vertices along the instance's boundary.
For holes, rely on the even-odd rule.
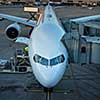
[[84,22],[96,20],[96,19],[100,19],[100,15],[93,15],[93,16],[82,17],[82,18],[75,18],[75,19],[71,19],[70,21],[76,22],[76,23],[84,23]]

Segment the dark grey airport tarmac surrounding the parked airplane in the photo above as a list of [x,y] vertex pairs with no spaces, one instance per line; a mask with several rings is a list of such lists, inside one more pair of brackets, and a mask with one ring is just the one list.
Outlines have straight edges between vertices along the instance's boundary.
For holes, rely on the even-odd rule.
[[[79,17],[100,14],[100,8],[67,6],[55,9],[57,17]],[[0,13],[28,17],[22,7],[0,7]],[[9,41],[4,34],[7,20],[0,22],[0,59],[9,59],[17,48],[25,45]],[[27,36],[29,28],[22,26],[22,35]],[[46,100],[43,87],[33,73],[0,73],[0,100]],[[62,80],[54,87],[51,100],[100,100],[100,65],[69,64]]]

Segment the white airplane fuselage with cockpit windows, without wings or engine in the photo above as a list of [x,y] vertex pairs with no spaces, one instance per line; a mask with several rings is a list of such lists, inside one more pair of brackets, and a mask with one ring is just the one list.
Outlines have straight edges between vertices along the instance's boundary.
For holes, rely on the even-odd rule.
[[29,43],[33,73],[44,87],[54,87],[65,72],[68,53],[61,42],[64,34],[52,7],[48,5],[39,25],[34,28]]

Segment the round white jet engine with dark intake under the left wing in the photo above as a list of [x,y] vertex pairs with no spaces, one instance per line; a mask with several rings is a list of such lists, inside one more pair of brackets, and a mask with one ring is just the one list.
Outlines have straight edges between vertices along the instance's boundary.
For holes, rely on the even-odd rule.
[[21,27],[17,23],[14,23],[14,24],[9,25],[6,28],[5,32],[8,39],[16,40],[16,38],[19,36],[21,32]]

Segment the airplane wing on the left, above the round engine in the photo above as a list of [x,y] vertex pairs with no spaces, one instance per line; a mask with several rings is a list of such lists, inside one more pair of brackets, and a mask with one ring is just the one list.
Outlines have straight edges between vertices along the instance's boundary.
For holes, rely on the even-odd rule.
[[28,19],[26,19],[26,18],[20,18],[20,17],[16,17],[16,16],[12,16],[12,15],[7,15],[7,14],[0,14],[0,18],[18,22],[18,23],[21,23],[21,24],[24,24],[27,26],[31,26],[31,27],[36,26],[36,21],[33,21],[33,20],[28,21]]

